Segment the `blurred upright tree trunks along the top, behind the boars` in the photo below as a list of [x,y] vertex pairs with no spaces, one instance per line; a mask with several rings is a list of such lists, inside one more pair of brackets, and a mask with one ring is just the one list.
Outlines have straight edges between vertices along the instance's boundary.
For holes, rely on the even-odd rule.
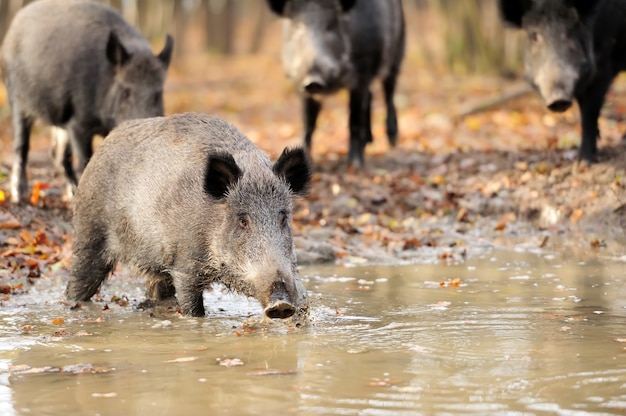
[[[0,0],[0,38],[32,0]],[[280,25],[263,0],[100,0],[149,39],[190,53],[278,53]],[[520,72],[520,36],[503,27],[496,0],[404,0],[407,59],[453,74]]]

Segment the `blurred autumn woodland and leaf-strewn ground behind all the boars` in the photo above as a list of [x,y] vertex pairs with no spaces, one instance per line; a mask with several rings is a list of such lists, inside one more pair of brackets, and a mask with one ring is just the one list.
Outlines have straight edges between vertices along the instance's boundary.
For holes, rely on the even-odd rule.
[[[0,0],[0,36],[25,3]],[[300,103],[280,63],[280,21],[264,1],[105,3],[136,25],[155,51],[166,33],[174,35],[166,114],[217,114],[272,158],[300,144]],[[376,83],[375,140],[366,150],[367,166],[346,172],[347,93],[325,100],[313,137],[313,188],[296,202],[300,262],[445,263],[476,247],[514,245],[620,253],[626,223],[623,78],[613,85],[600,118],[600,163],[581,167],[578,108],[551,114],[526,85],[524,39],[502,25],[495,0],[405,0],[404,8],[407,51],[395,97],[398,147],[388,148]],[[2,86],[5,192],[11,134]],[[36,184],[32,204],[0,205],[5,278],[67,266],[70,212],[49,148],[49,129],[39,126],[29,161],[30,184]]]

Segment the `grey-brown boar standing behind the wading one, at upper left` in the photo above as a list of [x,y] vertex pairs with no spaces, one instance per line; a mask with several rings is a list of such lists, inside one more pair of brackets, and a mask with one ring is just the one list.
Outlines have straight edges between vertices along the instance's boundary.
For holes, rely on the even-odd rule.
[[73,186],[96,134],[121,121],[163,115],[163,83],[173,49],[154,56],[147,40],[108,6],[39,0],[21,9],[2,44],[0,65],[13,117],[11,200],[27,191],[30,130],[37,119],[67,131],[63,168]]

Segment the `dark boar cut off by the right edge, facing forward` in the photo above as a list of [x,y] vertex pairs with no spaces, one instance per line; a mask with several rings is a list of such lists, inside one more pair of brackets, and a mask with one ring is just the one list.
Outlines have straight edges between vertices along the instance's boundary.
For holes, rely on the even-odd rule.
[[499,0],[504,20],[527,36],[526,75],[552,111],[574,99],[582,118],[580,159],[594,162],[598,117],[626,69],[625,0]]

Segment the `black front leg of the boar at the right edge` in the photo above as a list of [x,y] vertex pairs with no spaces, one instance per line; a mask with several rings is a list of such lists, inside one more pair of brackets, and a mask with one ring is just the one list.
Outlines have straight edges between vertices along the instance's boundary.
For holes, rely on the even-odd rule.
[[582,143],[580,145],[580,159],[585,163],[593,163],[597,158],[597,139],[600,134],[598,117],[604,104],[612,77],[598,75],[587,88],[576,97],[580,107],[582,121]]

